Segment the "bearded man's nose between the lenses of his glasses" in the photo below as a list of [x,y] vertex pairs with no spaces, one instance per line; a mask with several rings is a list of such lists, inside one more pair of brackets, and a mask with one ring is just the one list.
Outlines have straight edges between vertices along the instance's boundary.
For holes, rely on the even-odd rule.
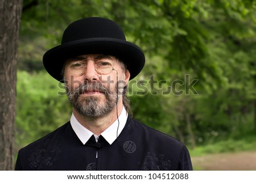
[[96,71],[96,65],[93,60],[88,60],[86,63],[84,80],[88,82],[98,81],[98,73]]

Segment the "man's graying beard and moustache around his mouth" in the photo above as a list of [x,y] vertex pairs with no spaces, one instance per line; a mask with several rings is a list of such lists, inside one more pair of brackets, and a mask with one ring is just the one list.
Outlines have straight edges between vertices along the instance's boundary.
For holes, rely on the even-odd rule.
[[[105,101],[100,104],[97,96],[81,96],[86,90],[97,89],[104,92]],[[116,89],[115,89],[116,90]],[[117,106],[117,92],[110,91],[109,88],[102,86],[99,82],[90,84],[83,83],[75,91],[67,92],[69,102],[81,116],[89,118],[99,118],[108,115]]]

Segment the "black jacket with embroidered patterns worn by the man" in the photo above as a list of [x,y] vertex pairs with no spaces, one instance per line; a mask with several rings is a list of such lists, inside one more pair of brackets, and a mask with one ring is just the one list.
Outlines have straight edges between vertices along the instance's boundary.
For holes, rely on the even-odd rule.
[[67,122],[20,149],[15,170],[192,170],[192,164],[182,143],[128,117],[112,145],[102,136],[83,145]]

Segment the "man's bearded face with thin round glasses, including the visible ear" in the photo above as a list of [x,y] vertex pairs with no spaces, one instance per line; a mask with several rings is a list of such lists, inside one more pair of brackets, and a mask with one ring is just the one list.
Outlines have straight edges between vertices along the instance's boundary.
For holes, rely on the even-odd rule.
[[126,86],[130,73],[113,56],[87,54],[65,62],[64,78],[73,109],[84,117],[96,118],[113,111],[121,97],[117,86]]

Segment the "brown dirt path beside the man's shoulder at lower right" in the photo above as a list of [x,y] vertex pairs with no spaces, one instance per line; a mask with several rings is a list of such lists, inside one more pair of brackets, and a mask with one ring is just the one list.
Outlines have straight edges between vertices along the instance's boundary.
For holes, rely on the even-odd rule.
[[192,156],[191,160],[194,170],[256,170],[256,151]]

